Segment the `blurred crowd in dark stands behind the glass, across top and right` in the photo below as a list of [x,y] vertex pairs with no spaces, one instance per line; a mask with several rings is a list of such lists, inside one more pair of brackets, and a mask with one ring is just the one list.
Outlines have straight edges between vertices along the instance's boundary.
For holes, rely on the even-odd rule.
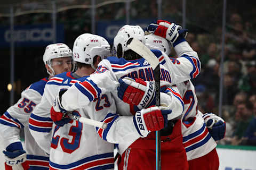
[[[91,1],[57,1],[57,8],[68,5],[90,5]],[[65,2],[65,3],[63,3]],[[96,1],[101,4],[104,1]],[[169,21],[182,24],[182,2],[162,1],[162,16]],[[212,1],[209,1],[211,3]],[[202,63],[201,74],[193,80],[199,100],[198,108],[203,112],[218,114],[219,106],[219,83],[221,75],[221,12],[215,14],[216,4],[222,11],[222,1],[213,1],[211,7],[206,6],[202,10],[209,11],[202,17],[187,16],[187,28],[189,33],[187,41],[199,54]],[[233,8],[228,9],[224,63],[223,63],[223,102],[222,117],[226,121],[226,137],[219,143],[226,145],[254,145],[256,146],[256,31],[254,17],[255,11],[247,11],[247,15],[236,10],[234,1]],[[218,4],[219,3],[219,4]],[[30,5],[29,5],[30,4]],[[175,4],[175,5],[173,5]],[[188,2],[191,9],[193,3]],[[51,5],[47,4],[51,8]],[[232,5],[230,5],[232,6]],[[25,8],[38,8],[38,4],[28,1]],[[132,19],[157,18],[157,1],[132,1],[130,16]],[[215,8],[214,8],[215,7]],[[250,6],[249,6],[250,7]],[[212,9],[210,12],[209,9]],[[22,11],[22,9],[19,9]],[[243,9],[242,9],[243,10]],[[18,10],[17,10],[18,11]],[[97,21],[125,20],[125,3],[110,3],[96,8]],[[200,12],[198,12],[200,13]],[[202,12],[201,12],[202,13]],[[198,14],[199,15],[199,14]],[[197,16],[198,16],[197,15]],[[214,17],[210,16],[214,15]],[[251,15],[251,18],[248,16]],[[29,16],[29,17],[28,17]],[[15,25],[51,23],[51,13],[24,14],[15,17]],[[209,18],[212,21],[209,21]],[[203,20],[205,19],[205,20]],[[207,25],[207,21],[209,24]],[[73,8],[57,13],[57,22],[65,27],[65,43],[70,47],[72,42],[81,32],[91,31],[90,8]],[[191,24],[194,23],[194,24]],[[216,24],[219,23],[219,24]],[[9,18],[0,17],[0,25],[9,25]],[[195,27],[197,25],[197,27]],[[97,32],[96,32],[97,33]],[[174,50],[173,50],[174,51]],[[173,54],[175,55],[175,54]],[[38,60],[37,60],[38,62]],[[32,81],[31,81],[32,82]],[[18,98],[17,98],[18,99]]]

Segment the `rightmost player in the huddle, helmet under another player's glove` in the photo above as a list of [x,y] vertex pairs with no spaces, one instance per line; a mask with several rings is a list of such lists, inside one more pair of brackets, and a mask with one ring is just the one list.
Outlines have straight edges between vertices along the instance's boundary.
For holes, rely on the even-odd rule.
[[[149,25],[148,29],[155,35],[146,36],[146,46],[148,48],[163,50],[167,55],[171,53],[171,46],[167,41],[169,39],[165,39],[166,37],[158,33],[161,32],[160,29],[164,31],[164,25],[168,24],[171,23],[159,20],[157,24]],[[158,32],[155,31],[157,29]],[[176,59],[172,58],[172,60],[175,61]],[[213,113],[203,115],[197,110],[198,100],[194,85],[190,80],[178,83],[177,87],[181,92],[185,108],[181,118],[181,129],[189,169],[217,170],[219,169],[219,158],[215,149],[217,144],[214,140],[220,140],[225,136],[226,124],[222,118]],[[211,160],[211,162],[207,160]]]

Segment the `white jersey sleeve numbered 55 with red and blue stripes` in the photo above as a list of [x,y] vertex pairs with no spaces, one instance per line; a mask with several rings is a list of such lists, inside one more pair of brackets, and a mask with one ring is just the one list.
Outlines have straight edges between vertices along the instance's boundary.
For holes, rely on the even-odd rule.
[[18,102],[1,116],[0,134],[5,148],[11,143],[20,142],[20,129],[28,126],[29,116],[41,98],[41,94],[34,89],[24,90]]

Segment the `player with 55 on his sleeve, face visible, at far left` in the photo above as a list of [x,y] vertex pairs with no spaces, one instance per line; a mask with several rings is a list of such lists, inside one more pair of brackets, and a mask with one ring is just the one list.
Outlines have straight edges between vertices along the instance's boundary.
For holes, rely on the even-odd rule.
[[[40,103],[47,81],[55,74],[70,71],[73,67],[72,52],[65,44],[51,44],[45,49],[43,61],[48,78],[31,84],[21,93],[18,102],[0,118],[3,138],[5,169],[49,169],[49,156],[37,145],[28,130],[28,120],[33,109]],[[20,141],[20,130],[25,131],[25,147]]]

